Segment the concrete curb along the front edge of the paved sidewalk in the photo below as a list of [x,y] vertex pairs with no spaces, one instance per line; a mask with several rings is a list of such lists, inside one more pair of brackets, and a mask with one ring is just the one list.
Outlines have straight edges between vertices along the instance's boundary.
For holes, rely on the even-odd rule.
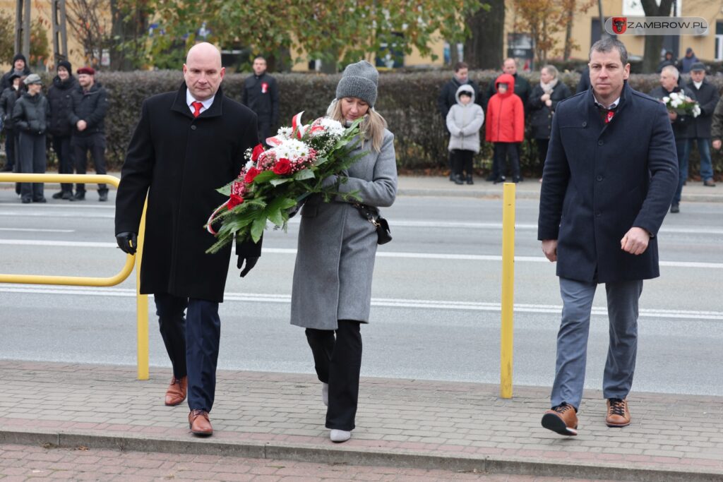
[[368,465],[460,473],[515,474],[548,477],[592,478],[639,482],[719,482],[723,474],[692,466],[662,470],[655,465],[604,465],[521,460],[505,457],[444,457],[434,452],[385,452],[379,449],[320,447],[307,444],[233,442],[218,439],[168,439],[129,434],[98,435],[58,431],[3,431],[0,444],[43,445],[48,448],[88,447],[131,452],[163,452],[188,455],[220,455],[294,462]]

